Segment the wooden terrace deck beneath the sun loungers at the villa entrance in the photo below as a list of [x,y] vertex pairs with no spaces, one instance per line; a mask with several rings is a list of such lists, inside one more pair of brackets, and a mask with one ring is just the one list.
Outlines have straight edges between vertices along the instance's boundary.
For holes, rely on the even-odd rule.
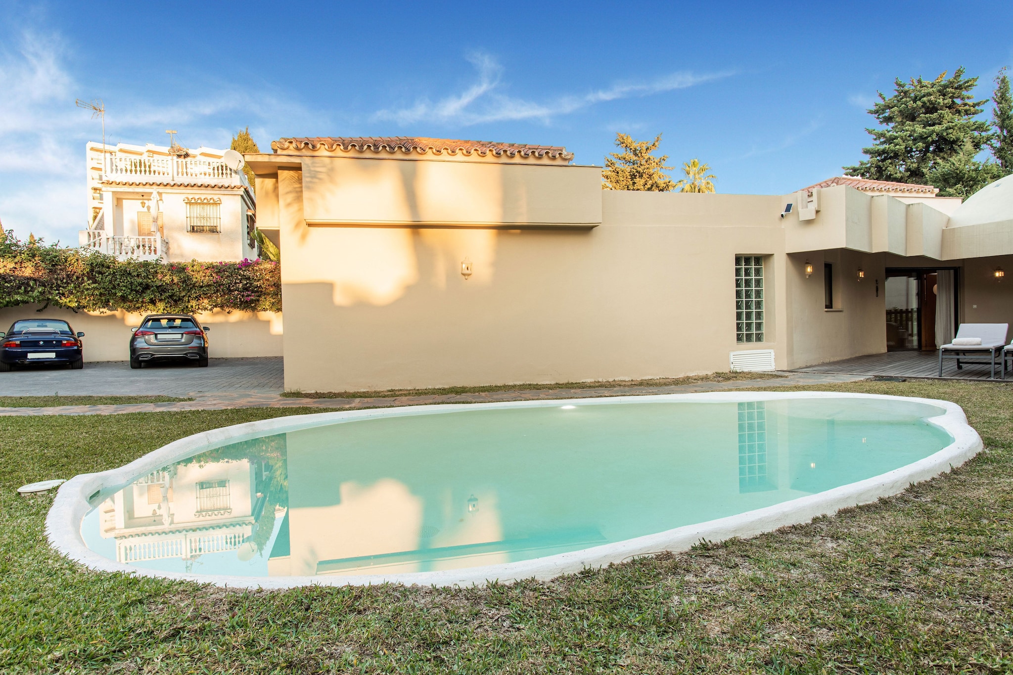
[[[988,357],[986,357],[988,358]],[[937,377],[939,376],[938,351],[888,351],[885,354],[869,354],[795,368],[796,372],[834,372],[854,375],[887,375],[894,377]],[[996,379],[1001,373],[996,359]],[[991,368],[988,363],[963,363],[957,369],[954,359],[943,360],[943,377],[959,379],[988,379]],[[1013,374],[1007,370],[1007,378],[1013,382]]]

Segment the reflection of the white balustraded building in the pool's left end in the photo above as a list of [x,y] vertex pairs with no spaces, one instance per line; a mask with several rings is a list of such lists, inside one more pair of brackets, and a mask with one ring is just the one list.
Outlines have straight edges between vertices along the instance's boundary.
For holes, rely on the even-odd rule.
[[285,436],[203,452],[144,476],[98,507],[99,534],[116,561],[176,558],[186,571],[207,554],[251,559],[288,504]]

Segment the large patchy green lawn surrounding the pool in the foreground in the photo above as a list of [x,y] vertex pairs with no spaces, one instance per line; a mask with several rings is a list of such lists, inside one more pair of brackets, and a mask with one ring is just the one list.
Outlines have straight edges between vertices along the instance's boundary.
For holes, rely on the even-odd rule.
[[954,401],[986,450],[834,517],[547,583],[240,592],[83,571],[46,543],[52,497],[14,488],[297,411],[0,418],[0,671],[1013,671],[1013,387],[791,389]]

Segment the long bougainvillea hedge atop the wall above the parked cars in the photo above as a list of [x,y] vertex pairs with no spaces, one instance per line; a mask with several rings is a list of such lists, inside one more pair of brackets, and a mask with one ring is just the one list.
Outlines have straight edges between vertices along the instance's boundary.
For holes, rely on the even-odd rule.
[[0,307],[38,304],[128,312],[280,312],[279,263],[116,260],[22,242],[0,231]]

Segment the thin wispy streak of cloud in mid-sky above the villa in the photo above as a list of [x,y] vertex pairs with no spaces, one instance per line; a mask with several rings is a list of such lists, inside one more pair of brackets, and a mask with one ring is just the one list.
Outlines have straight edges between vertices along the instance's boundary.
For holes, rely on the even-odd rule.
[[524,119],[547,122],[553,117],[575,112],[596,103],[686,89],[732,75],[731,72],[707,74],[677,72],[646,82],[620,82],[583,94],[562,94],[547,101],[536,102],[504,93],[503,69],[491,56],[474,53],[467,59],[475,67],[477,77],[464,91],[445,96],[435,102],[428,97],[423,97],[406,107],[379,110],[374,117],[400,124],[435,121],[465,126]]

